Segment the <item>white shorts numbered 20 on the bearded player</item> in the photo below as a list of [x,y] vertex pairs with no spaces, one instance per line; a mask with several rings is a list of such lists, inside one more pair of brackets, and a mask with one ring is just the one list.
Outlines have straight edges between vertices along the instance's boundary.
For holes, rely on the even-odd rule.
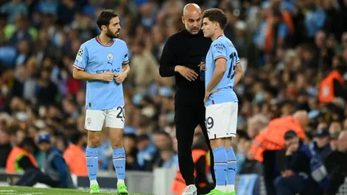
[[[108,110],[86,109],[86,130],[99,131],[106,123],[108,128],[124,128],[124,106],[118,106]],[[106,120],[105,120],[106,119]]]

